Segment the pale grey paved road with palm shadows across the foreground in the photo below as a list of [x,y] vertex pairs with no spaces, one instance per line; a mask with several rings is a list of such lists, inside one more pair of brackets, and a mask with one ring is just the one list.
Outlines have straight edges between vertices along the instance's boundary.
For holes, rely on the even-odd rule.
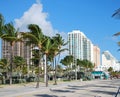
[[[120,79],[58,83],[58,85],[13,85],[0,88],[0,97],[115,97]],[[120,92],[118,96],[120,97]]]

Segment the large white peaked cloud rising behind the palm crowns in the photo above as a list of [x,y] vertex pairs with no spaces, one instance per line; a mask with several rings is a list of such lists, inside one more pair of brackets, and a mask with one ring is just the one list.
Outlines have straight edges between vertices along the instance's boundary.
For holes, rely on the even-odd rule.
[[19,19],[15,19],[15,27],[19,28],[20,31],[28,31],[28,24],[37,24],[42,29],[45,35],[53,35],[54,30],[52,24],[47,20],[48,13],[43,12],[43,6],[39,0],[33,4],[23,16]]

